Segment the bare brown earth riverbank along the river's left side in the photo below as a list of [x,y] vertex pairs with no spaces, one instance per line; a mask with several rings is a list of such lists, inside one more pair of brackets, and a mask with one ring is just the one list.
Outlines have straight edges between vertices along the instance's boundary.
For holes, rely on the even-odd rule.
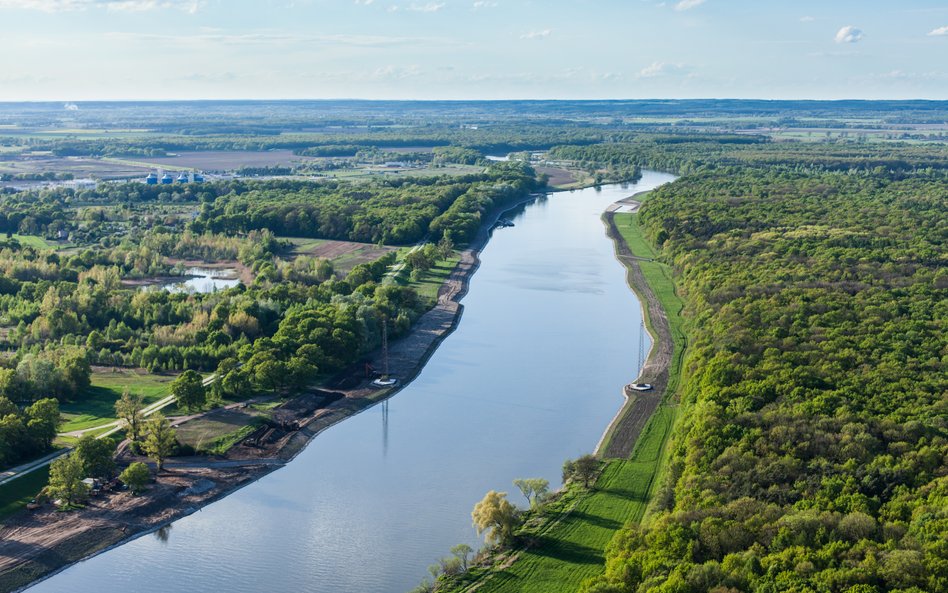
[[[70,565],[155,532],[212,502],[260,479],[295,458],[322,431],[392,397],[424,368],[438,345],[456,327],[463,313],[460,300],[480,265],[479,253],[497,220],[510,209],[533,201],[536,194],[498,210],[481,227],[438,294],[434,308],[411,333],[389,347],[389,368],[399,387],[378,390],[356,375],[334,389],[328,405],[315,403],[326,391],[312,390],[280,411],[292,430],[255,446],[238,445],[223,457],[170,460],[166,471],[141,496],[128,492],[100,494],[85,509],[60,513],[51,506],[23,512],[0,526],[0,592],[19,591]],[[372,364],[381,367],[381,353]],[[125,461],[128,461],[127,459]]]

